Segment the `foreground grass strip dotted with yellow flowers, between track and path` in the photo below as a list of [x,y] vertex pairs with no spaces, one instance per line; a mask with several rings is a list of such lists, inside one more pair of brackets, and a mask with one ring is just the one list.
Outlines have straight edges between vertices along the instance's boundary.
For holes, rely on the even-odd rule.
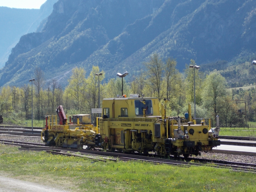
[[252,173],[142,162],[95,162],[0,144],[0,172],[70,191],[256,191]]

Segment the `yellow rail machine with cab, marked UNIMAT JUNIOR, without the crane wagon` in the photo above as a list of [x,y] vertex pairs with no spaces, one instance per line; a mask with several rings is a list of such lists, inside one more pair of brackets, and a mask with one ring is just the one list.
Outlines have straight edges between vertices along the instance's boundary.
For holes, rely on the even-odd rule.
[[[165,100],[167,102],[167,100]],[[102,118],[99,118],[99,134],[95,138],[96,145],[105,150],[122,152],[149,151],[163,156],[174,155],[184,157],[200,155],[200,151],[209,151],[220,145],[219,116],[216,128],[201,124],[191,117],[191,106],[184,117],[165,116],[162,104],[162,116],[159,113],[158,98],[140,97],[130,94],[117,98],[103,99]]]

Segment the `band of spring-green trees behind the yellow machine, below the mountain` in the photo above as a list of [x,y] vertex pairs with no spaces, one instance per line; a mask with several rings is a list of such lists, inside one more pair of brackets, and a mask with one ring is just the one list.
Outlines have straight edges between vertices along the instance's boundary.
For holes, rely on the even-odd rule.
[[[196,65],[194,60],[191,65]],[[132,77],[127,83],[124,78],[124,94],[131,93],[146,97],[157,97],[160,103],[170,99],[166,105],[167,116],[184,116],[188,111],[188,102],[194,108],[194,70],[186,65],[184,75],[176,69],[175,59],[163,61],[158,54],[150,57],[143,64],[145,71],[140,71],[137,77]],[[95,76],[102,73],[101,76]],[[44,115],[55,114],[57,106],[62,105],[66,114],[90,114],[92,108],[98,108],[100,90],[100,106],[103,98],[116,98],[122,93],[120,77],[112,78],[105,83],[105,71],[93,66],[89,76],[84,68],[73,68],[68,79],[68,85],[63,88],[57,79],[45,81],[45,74],[40,68],[33,73],[33,106],[35,118],[40,120]],[[99,78],[98,78],[99,77]],[[221,126],[247,126],[249,120],[255,120],[256,91],[227,89],[226,79],[217,71],[204,75],[200,70],[195,71],[196,78],[196,117],[212,118],[220,116]],[[100,87],[98,87],[98,82]],[[243,102],[237,102],[243,100]],[[32,105],[31,83],[22,87],[5,86],[0,90],[0,114],[5,121],[21,124],[31,118]],[[246,102],[247,108],[244,103]],[[160,107],[160,106],[159,106]],[[161,111],[161,107],[159,108]],[[246,109],[246,110],[245,110]],[[245,116],[245,112],[247,116]],[[93,115],[93,121],[98,114]],[[192,114],[194,116],[194,113]],[[195,117],[195,116],[194,116]],[[247,118],[245,118],[247,117]]]

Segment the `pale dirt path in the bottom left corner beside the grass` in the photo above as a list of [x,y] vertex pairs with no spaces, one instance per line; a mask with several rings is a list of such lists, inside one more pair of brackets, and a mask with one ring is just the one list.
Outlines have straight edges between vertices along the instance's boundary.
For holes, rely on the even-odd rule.
[[36,183],[4,177],[0,175],[0,192],[67,192]]

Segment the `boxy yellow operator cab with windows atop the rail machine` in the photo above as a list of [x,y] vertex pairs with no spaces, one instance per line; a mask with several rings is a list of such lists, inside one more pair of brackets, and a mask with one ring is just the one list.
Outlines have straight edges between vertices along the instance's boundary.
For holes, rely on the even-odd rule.
[[156,97],[144,98],[139,94],[130,94],[117,98],[103,99],[102,118],[120,118],[120,117],[159,117],[159,103]]

